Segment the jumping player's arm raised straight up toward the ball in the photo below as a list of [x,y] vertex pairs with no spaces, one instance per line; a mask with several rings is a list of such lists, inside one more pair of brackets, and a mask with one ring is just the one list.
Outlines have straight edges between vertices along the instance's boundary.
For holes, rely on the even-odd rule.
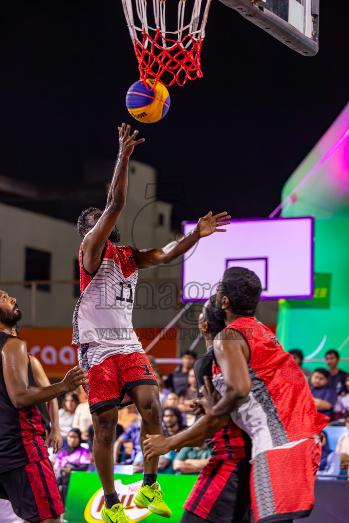
[[102,257],[105,243],[114,229],[122,209],[126,204],[128,186],[128,163],[134,146],[144,142],[144,138],[135,140],[138,131],[130,135],[130,126],[122,123],[119,130],[119,153],[112,176],[107,203],[104,211],[95,210],[91,212],[89,219],[92,221],[93,229],[84,231],[82,252],[84,268],[93,274]]

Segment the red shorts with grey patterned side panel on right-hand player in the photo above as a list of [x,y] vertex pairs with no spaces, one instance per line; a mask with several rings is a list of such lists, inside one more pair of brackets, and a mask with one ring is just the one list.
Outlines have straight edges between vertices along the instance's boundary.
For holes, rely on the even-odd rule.
[[308,517],[315,503],[314,480],[320,459],[321,444],[314,438],[258,454],[250,476],[255,523]]

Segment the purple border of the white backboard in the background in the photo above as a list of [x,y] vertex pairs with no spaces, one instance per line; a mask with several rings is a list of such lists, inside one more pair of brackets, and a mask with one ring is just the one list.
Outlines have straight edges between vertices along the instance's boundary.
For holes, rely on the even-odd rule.
[[[273,296],[273,297],[266,297],[266,296],[261,296],[260,298],[260,301],[267,301],[267,300],[307,300],[309,298],[313,298],[314,297],[314,217],[313,216],[291,216],[291,217],[287,217],[287,218],[283,218],[283,217],[277,217],[277,218],[240,218],[240,219],[236,219],[236,220],[230,220],[230,222],[263,222],[263,221],[266,221],[266,220],[310,220],[310,230],[311,230],[311,253],[310,253],[310,294],[305,294],[305,295],[291,295],[291,296]],[[193,229],[195,227],[195,225],[197,224],[197,222],[193,222],[191,220],[184,220],[181,225],[182,225],[182,234],[184,234],[184,226],[187,225],[188,223],[192,223],[193,224]],[[182,256],[182,260],[184,259],[184,256]],[[187,303],[187,302],[192,302],[192,303],[195,303],[195,302],[201,302],[201,303],[205,303],[207,301],[207,299],[205,298],[200,298],[200,299],[195,299],[195,300],[186,300],[183,298],[183,280],[184,280],[184,262],[182,261],[182,281],[181,281],[181,300],[183,303]]]

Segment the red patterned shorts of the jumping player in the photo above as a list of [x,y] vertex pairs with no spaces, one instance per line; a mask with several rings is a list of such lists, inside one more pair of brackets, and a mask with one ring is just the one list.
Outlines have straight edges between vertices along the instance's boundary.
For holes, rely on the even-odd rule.
[[138,385],[156,385],[157,381],[145,353],[114,354],[87,373],[84,387],[89,410],[95,412],[106,405],[130,405],[128,391]]

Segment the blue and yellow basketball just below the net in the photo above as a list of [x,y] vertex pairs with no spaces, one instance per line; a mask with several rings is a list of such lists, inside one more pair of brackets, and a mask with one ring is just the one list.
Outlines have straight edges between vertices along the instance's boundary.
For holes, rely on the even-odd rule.
[[[145,82],[152,88],[155,80],[148,78]],[[159,81],[152,90],[140,81],[134,82],[126,95],[127,109],[139,122],[158,122],[167,114],[170,104],[168,90]]]

